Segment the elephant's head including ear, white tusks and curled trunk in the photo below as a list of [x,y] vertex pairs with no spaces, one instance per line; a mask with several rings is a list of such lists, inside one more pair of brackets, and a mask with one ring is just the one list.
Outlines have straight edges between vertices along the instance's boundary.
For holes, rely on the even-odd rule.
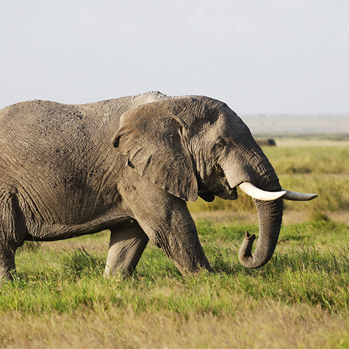
[[[186,201],[200,195],[237,199],[237,186],[253,197],[258,211],[258,244],[246,237],[242,265],[256,268],[272,257],[279,237],[283,198],[317,195],[283,191],[274,168],[235,112],[207,97],[173,98],[125,112],[113,139],[128,165],[168,193]],[[283,198],[282,198],[283,197]]]

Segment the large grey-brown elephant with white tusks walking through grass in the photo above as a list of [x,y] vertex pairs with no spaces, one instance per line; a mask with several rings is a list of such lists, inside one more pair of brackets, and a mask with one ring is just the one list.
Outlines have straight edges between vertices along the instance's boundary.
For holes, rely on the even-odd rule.
[[110,230],[105,276],[133,274],[149,239],[181,274],[211,269],[186,202],[253,197],[259,238],[239,261],[274,253],[283,190],[248,127],[228,105],[158,91],[81,105],[27,101],[0,110],[0,277],[13,279],[24,241]]

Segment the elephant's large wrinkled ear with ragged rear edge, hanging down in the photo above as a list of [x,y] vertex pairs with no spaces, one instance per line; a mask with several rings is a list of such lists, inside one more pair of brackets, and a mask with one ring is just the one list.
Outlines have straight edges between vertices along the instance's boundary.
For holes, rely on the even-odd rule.
[[195,201],[198,181],[180,118],[190,101],[176,98],[128,110],[121,115],[112,142],[142,177],[183,200]]

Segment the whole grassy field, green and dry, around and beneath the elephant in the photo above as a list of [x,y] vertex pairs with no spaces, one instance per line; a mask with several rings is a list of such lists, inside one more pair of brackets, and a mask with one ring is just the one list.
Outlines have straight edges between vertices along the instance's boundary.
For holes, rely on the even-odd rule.
[[149,244],[133,278],[103,279],[107,232],[24,244],[0,288],[0,348],[349,348],[349,147],[299,142],[265,152],[285,188],[320,195],[286,203],[265,267],[239,265],[258,232],[243,193],[190,205],[211,273],[181,276]]

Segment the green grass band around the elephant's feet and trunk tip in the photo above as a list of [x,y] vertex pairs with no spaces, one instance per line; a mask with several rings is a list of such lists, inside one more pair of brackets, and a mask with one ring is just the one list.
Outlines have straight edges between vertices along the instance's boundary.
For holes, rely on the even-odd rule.
[[[256,227],[246,225],[245,228],[255,230]],[[137,285],[142,292],[150,292],[153,288],[172,282],[186,289],[185,294],[178,296],[179,299],[187,298],[190,301],[181,305],[188,307],[187,310],[193,309],[193,306],[193,310],[198,310],[195,308],[198,302],[196,286],[201,288],[205,285],[209,288],[211,283],[219,286],[221,292],[244,291],[257,300],[265,299],[266,296],[276,297],[279,292],[279,301],[284,300],[288,304],[300,300],[310,302],[310,299],[303,295],[303,286],[310,281],[314,282],[314,287],[319,283],[320,289],[323,283],[342,284],[340,279],[343,279],[343,285],[349,284],[349,237],[346,224],[332,221],[311,222],[283,228],[274,258],[266,267],[257,270],[244,269],[237,260],[238,246],[243,237],[242,233],[237,234],[239,231],[242,232],[240,227],[235,225],[213,227],[206,222],[198,222],[198,230],[214,269],[213,273],[204,272],[182,277],[160,249],[149,246],[137,269],[141,283],[137,278],[126,281],[103,279],[106,251],[88,252],[86,248],[77,248],[69,252],[19,250],[18,276],[14,283],[5,283],[1,288],[1,309],[21,309],[24,313],[40,313],[54,309],[65,313],[74,311],[81,304],[93,308],[95,302],[114,302],[119,292],[123,294],[120,304],[132,304],[135,292],[140,290],[130,292],[130,287]],[[215,241],[211,241],[214,240],[212,235],[216,236]],[[286,282],[291,275],[295,279],[292,285]],[[226,282],[229,283],[227,290],[225,290]],[[251,283],[255,285],[253,288],[250,288]],[[191,289],[193,285],[195,285],[194,290]],[[292,293],[291,290],[295,292]],[[216,288],[215,292],[217,291]],[[137,295],[138,300],[142,299],[142,302],[137,304],[137,309],[147,311],[154,299],[147,300],[148,295],[142,295],[142,292]],[[311,302],[319,304],[324,309],[343,313],[348,310],[349,294],[346,293],[341,295],[343,298],[339,298],[338,293],[333,293],[332,297],[336,297],[338,302],[331,309],[327,304],[322,304],[321,298],[317,301],[314,301],[314,298]],[[179,304],[162,304],[161,308],[163,306],[168,310],[174,310]],[[204,307],[202,310],[214,313],[220,311],[219,306],[214,308],[214,304],[207,303],[207,306],[208,308]],[[184,309],[179,307],[177,311]]]

